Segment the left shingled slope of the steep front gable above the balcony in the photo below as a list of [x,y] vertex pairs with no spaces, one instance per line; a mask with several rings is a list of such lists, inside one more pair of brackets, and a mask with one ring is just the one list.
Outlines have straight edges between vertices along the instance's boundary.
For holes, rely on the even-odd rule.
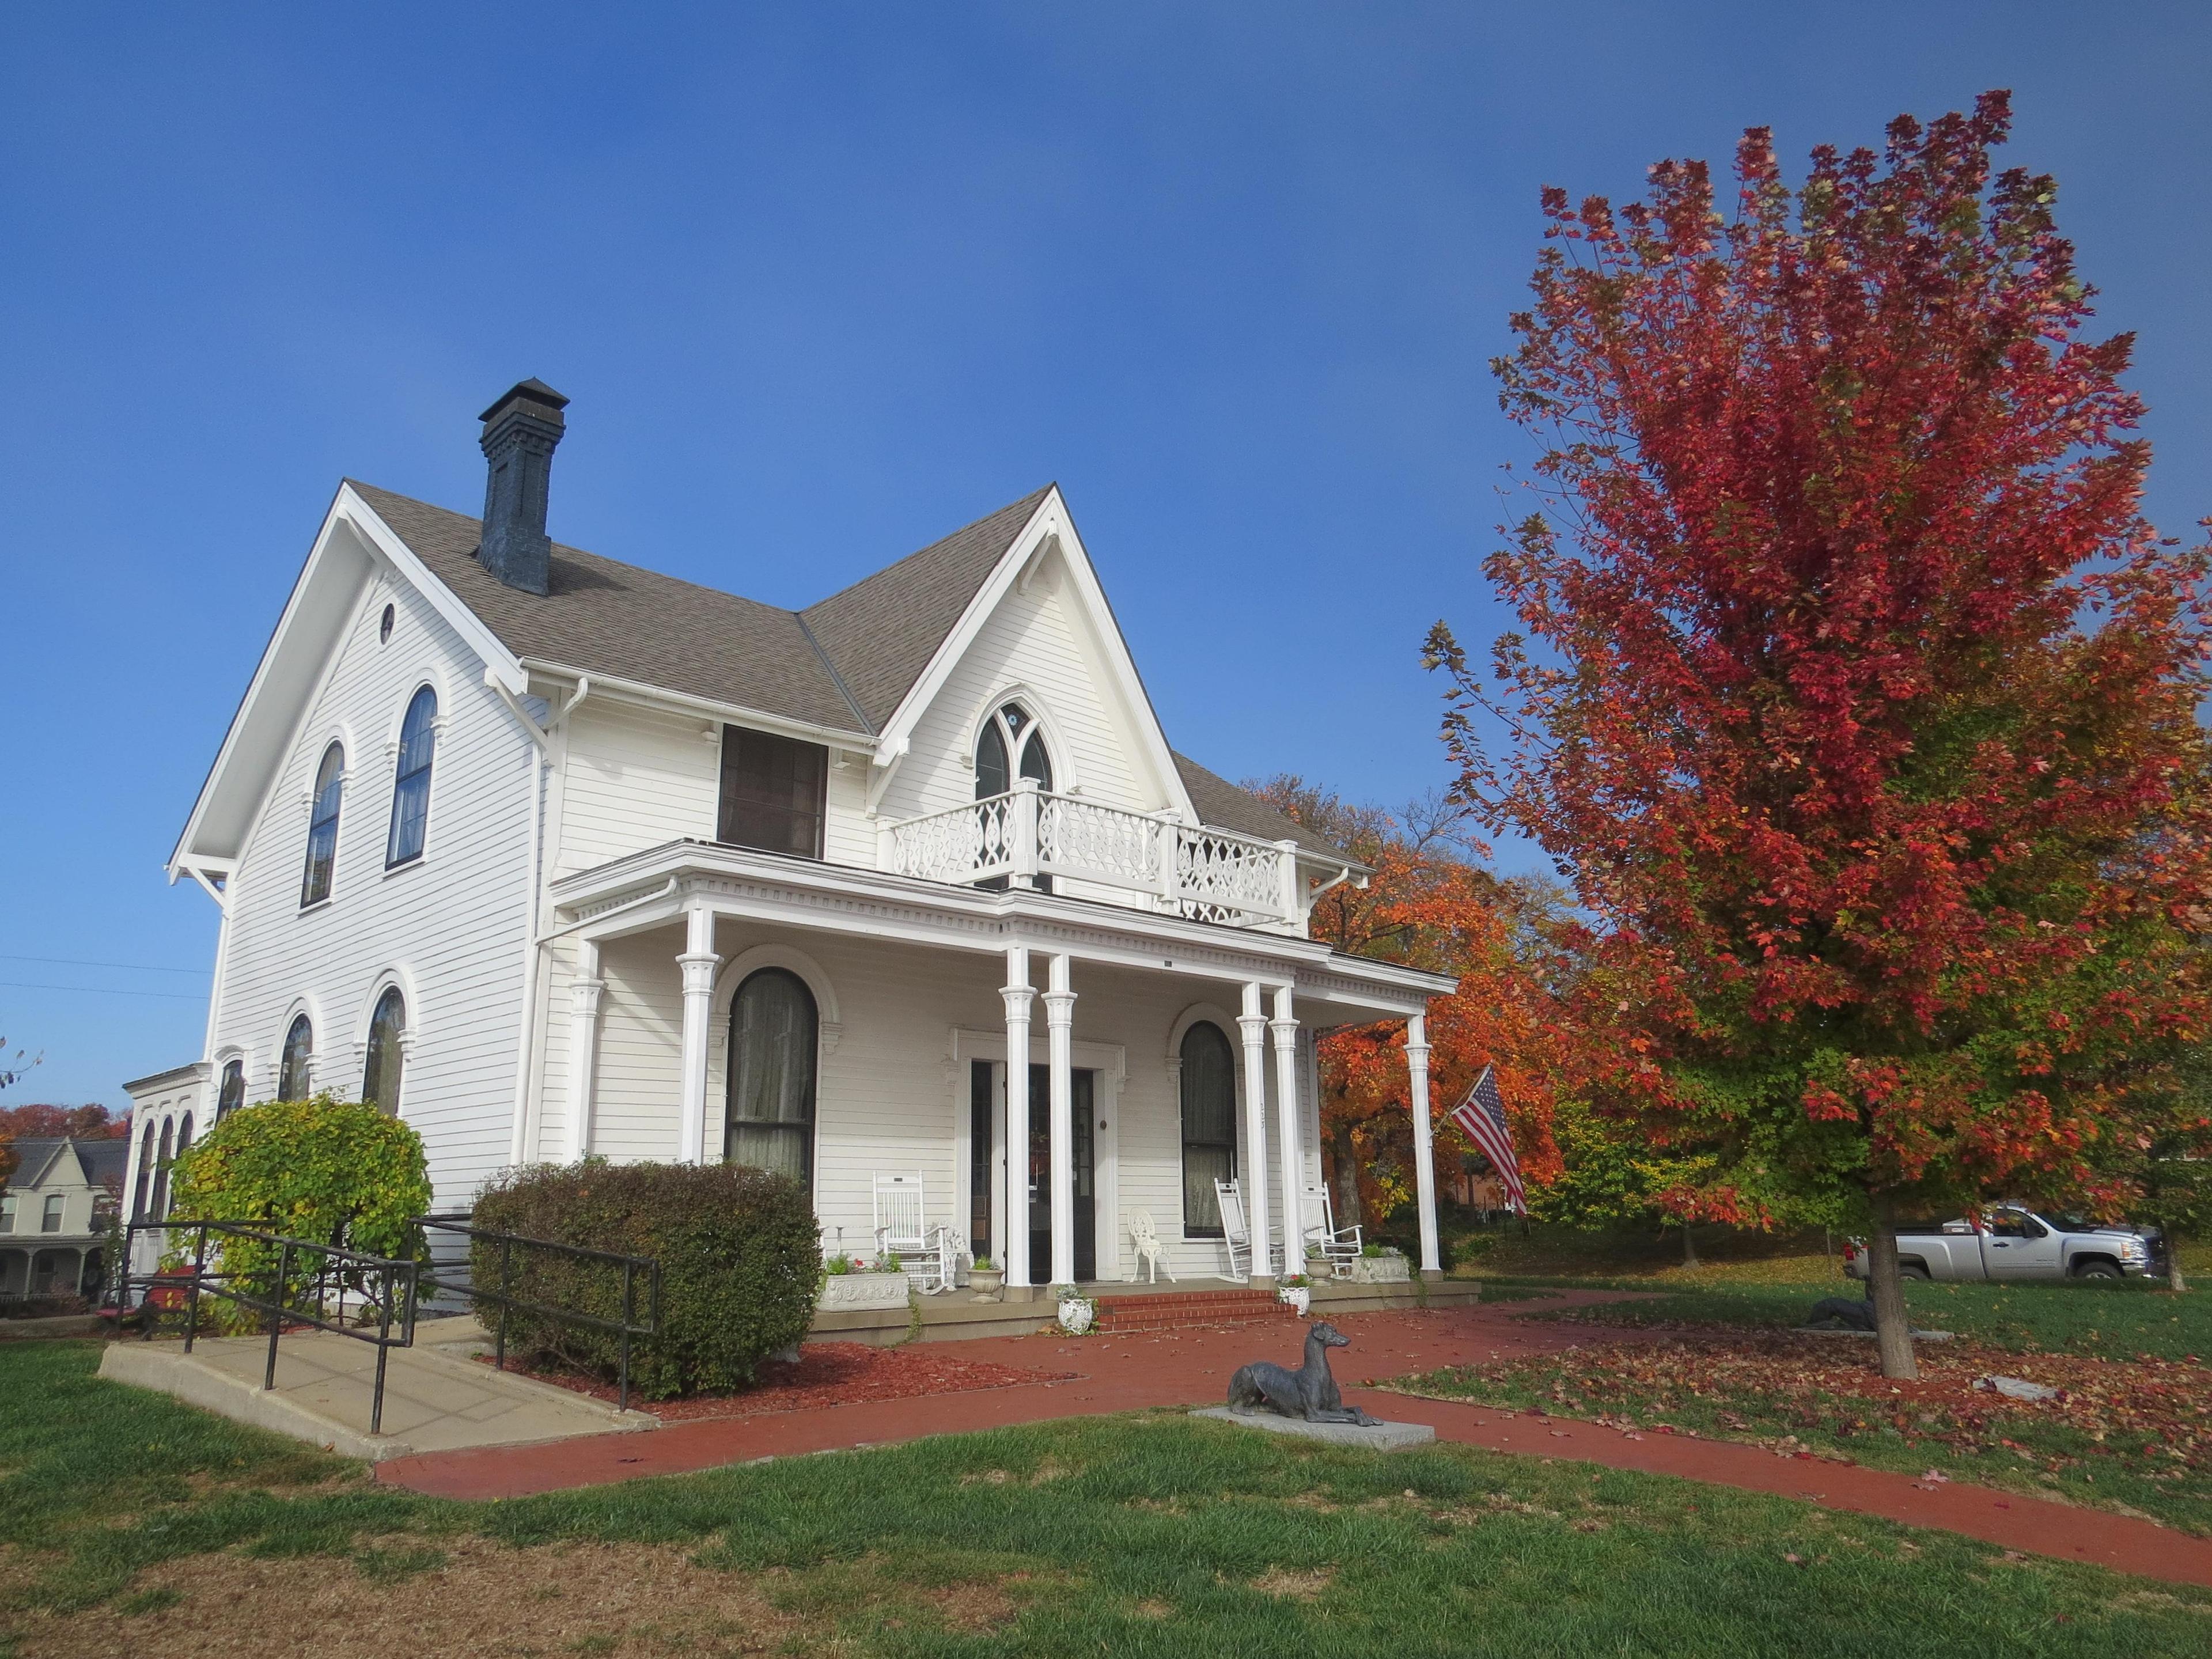
[[898,712],[938,646],[1051,493],[1053,487],[1046,484],[799,613],[838,666],[869,730],[883,730]]

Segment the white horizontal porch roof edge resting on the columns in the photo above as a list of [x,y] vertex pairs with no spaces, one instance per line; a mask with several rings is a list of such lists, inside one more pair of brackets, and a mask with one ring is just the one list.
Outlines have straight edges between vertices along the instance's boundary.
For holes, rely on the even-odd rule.
[[785,927],[1086,962],[1212,982],[1290,984],[1310,1024],[1422,1013],[1458,980],[1345,956],[1318,940],[1024,889],[987,891],[750,847],[672,841],[553,885],[549,933],[611,940],[708,909]]

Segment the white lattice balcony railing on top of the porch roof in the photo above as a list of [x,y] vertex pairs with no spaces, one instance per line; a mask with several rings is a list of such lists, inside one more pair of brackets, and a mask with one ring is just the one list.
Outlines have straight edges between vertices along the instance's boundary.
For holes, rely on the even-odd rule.
[[907,818],[880,834],[880,860],[900,876],[949,883],[1037,876],[1144,894],[1152,909],[1241,927],[1298,922],[1298,858],[1290,841],[1053,794],[1024,781],[1006,794]]

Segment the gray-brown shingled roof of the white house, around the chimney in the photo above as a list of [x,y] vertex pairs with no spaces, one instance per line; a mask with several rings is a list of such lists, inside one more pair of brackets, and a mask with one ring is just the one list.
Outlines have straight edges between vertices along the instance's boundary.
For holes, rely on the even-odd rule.
[[[480,520],[347,482],[518,657],[869,734],[889,723],[1051,493],[1046,484],[805,611],[781,611],[560,542],[551,593],[524,593],[476,562]],[[1206,823],[1343,858],[1197,761],[1177,754],[1175,765]]]

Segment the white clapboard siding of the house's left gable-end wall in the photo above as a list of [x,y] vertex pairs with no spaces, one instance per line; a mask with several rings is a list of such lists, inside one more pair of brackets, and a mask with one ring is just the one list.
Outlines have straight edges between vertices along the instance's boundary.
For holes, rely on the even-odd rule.
[[[383,606],[396,606],[378,644]],[[407,984],[403,1117],[425,1141],[440,1203],[467,1203],[507,1164],[522,1006],[535,748],[482,684],[482,661],[405,584],[367,582],[230,883],[221,1006],[208,1060],[246,1060],[248,1099],[276,1088],[294,1009],[314,1018],[314,1082],[361,1091],[385,975]],[[438,686],[438,748],[420,860],[385,869],[400,719]],[[307,807],[332,739],[345,796],[332,898],[301,911]]]

